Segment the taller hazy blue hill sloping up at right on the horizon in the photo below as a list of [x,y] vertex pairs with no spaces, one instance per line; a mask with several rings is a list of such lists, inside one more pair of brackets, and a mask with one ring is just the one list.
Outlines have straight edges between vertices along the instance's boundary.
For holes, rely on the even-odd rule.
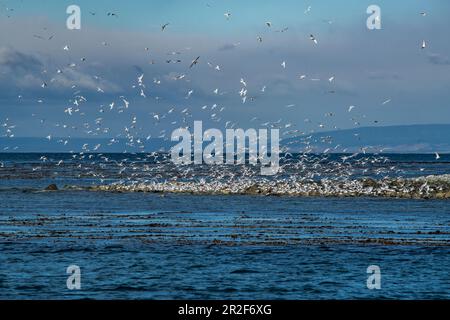
[[[299,141],[300,140],[300,141]],[[303,141],[303,143],[301,142]],[[304,151],[310,141],[312,150],[323,152],[430,153],[450,152],[450,124],[363,127],[289,138],[282,141],[291,151]],[[334,149],[338,146],[336,149]],[[332,149],[332,150],[331,150]]]

